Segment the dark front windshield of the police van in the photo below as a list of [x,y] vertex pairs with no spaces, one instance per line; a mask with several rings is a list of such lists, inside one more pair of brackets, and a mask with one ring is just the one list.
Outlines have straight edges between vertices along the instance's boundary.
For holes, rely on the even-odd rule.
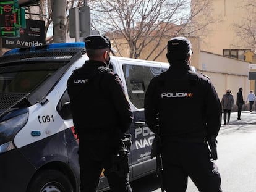
[[0,93],[31,93],[66,62],[22,62],[0,65]]

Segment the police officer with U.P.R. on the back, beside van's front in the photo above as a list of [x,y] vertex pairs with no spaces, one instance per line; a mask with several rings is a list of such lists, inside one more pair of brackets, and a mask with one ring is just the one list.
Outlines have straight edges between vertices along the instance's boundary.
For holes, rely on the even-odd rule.
[[79,137],[80,191],[96,191],[103,169],[111,191],[132,191],[128,156],[117,154],[133,114],[121,79],[108,68],[111,43],[106,36],[90,35],[85,47],[89,60],[67,81]]

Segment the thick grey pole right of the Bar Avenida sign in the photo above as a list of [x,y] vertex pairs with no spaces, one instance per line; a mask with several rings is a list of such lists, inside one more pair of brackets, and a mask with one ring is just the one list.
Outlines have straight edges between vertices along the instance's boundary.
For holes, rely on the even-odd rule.
[[66,5],[67,1],[64,0],[51,1],[54,43],[66,43],[67,41]]

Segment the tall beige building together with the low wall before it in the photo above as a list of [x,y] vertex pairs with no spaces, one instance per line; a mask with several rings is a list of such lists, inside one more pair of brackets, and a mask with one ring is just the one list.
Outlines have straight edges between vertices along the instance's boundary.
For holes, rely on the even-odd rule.
[[[248,0],[212,0],[211,14],[218,22],[209,25],[205,30],[207,35],[202,36],[196,43],[199,49],[198,66],[197,62],[193,64],[211,78],[220,99],[226,88],[231,88],[235,102],[239,87],[244,88],[244,100],[250,89],[254,92],[256,90],[255,80],[248,79],[249,64],[256,63],[255,47],[244,41],[249,37],[245,33],[239,33],[237,28],[237,25],[242,25],[244,19],[254,12],[246,6],[248,2]],[[204,18],[195,19],[198,21]]]

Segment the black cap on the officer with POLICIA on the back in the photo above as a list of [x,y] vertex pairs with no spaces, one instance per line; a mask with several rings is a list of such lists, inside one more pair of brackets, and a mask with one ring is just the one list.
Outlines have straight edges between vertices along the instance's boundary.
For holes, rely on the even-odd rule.
[[183,36],[177,36],[177,37],[171,38],[171,40],[169,40],[167,44],[168,53],[172,53],[172,52],[189,53],[191,49],[192,49],[192,44],[187,38]]

